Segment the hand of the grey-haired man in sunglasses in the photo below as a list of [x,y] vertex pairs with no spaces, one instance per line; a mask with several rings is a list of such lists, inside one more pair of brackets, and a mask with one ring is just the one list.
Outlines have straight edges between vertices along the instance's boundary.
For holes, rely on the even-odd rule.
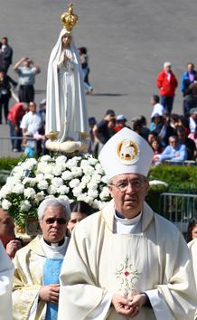
[[39,291],[39,297],[45,302],[52,302],[53,304],[58,304],[60,295],[60,285],[48,285],[43,286]]

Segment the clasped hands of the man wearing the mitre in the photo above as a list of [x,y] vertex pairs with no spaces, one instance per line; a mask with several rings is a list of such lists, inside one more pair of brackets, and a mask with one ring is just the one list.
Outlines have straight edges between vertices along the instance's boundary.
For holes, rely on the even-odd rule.
[[141,307],[145,305],[146,297],[145,294],[139,294],[125,298],[115,294],[111,302],[118,315],[134,318],[139,313]]

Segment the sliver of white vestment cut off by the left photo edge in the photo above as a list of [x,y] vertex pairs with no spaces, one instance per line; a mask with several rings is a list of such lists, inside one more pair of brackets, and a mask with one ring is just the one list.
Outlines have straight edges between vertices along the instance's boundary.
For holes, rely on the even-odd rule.
[[12,320],[14,264],[0,240],[0,320]]

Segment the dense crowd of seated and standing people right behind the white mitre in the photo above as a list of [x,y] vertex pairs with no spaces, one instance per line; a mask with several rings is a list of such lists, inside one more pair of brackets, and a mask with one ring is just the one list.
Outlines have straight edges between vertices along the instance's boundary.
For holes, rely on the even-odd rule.
[[[153,110],[151,123],[147,127],[144,116],[133,118],[131,127],[140,136],[148,141],[154,150],[152,165],[164,162],[194,163],[197,156],[197,108],[190,110],[188,118],[182,115],[166,114],[164,107],[159,103],[159,96],[151,98]],[[110,136],[127,126],[124,115],[115,115],[114,110],[107,110],[104,118],[97,123],[95,118],[89,118],[90,146],[89,153],[98,155]]]

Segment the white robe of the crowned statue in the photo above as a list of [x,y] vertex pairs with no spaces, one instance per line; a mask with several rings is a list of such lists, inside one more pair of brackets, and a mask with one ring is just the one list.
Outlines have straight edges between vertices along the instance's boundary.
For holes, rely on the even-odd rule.
[[[62,29],[52,49],[47,76],[45,134],[58,133],[58,142],[78,140],[79,133],[89,134],[86,99],[80,56],[71,36],[70,48],[63,49]],[[69,60],[63,61],[66,52]]]

